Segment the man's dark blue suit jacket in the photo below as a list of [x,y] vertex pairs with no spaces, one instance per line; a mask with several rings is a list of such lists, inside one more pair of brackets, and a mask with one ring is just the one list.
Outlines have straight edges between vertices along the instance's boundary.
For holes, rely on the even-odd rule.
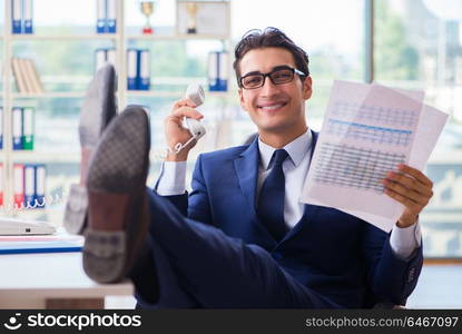
[[[314,145],[316,140],[313,132]],[[267,249],[298,282],[338,305],[405,304],[422,268],[422,247],[410,261],[402,261],[391,249],[387,233],[337,209],[315,205],[305,205],[301,222],[283,240],[275,242],[256,214],[258,164],[257,140],[203,154],[196,163],[190,195],[169,199],[189,218]]]

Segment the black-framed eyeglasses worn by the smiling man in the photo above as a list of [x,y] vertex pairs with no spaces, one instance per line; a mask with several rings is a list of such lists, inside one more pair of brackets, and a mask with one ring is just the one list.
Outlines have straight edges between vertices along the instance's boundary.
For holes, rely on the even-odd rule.
[[265,85],[266,77],[269,77],[269,80],[272,80],[274,85],[284,85],[294,80],[294,75],[307,77],[304,72],[297,70],[296,68],[284,66],[277,67],[267,73],[253,72],[246,75],[239,79],[239,86],[245,89],[261,88]]

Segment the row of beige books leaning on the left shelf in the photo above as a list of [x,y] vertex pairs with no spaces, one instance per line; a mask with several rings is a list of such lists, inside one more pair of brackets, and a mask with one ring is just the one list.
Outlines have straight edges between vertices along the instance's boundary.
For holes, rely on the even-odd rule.
[[19,92],[41,94],[43,87],[39,73],[32,59],[12,58],[11,59],[16,87]]

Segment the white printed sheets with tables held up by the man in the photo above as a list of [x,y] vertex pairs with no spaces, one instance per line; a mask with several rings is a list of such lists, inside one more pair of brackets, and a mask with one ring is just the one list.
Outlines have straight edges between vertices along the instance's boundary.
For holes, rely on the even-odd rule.
[[301,202],[334,207],[390,232],[404,206],[382,180],[399,164],[423,170],[448,115],[424,94],[335,81]]

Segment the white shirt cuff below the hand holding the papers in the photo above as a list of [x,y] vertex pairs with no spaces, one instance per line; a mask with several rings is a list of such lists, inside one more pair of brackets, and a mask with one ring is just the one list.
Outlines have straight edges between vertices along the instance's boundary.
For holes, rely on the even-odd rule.
[[422,232],[419,220],[409,227],[393,226],[392,235],[390,236],[390,246],[393,253],[401,259],[410,259],[415,248],[420,247],[422,243]]

